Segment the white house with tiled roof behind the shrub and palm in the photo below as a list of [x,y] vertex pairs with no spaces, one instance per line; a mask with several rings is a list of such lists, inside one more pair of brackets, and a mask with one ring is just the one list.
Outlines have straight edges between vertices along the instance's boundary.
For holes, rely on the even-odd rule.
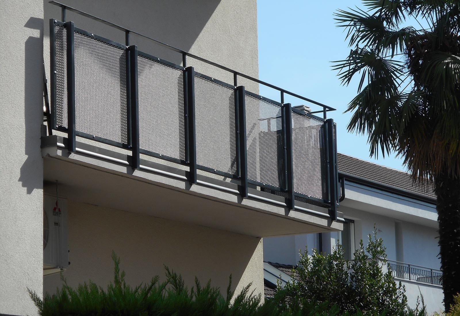
[[[424,190],[414,186],[403,171],[345,154],[339,153],[337,161],[340,182],[345,183],[345,197],[340,199],[339,207],[345,219],[343,231],[264,238],[264,260],[270,261],[265,268],[282,266],[284,270],[279,270],[286,272],[287,267],[297,264],[299,249],[304,251],[307,246],[310,253],[312,248],[330,253],[338,242],[352,259],[361,239],[366,246],[375,224],[395,281],[406,287],[409,305],[415,307],[422,293],[428,312],[443,310],[433,188]],[[265,276],[271,274],[277,272],[268,273],[265,269]],[[271,295],[273,282],[265,277],[266,288],[267,285],[266,293]]]

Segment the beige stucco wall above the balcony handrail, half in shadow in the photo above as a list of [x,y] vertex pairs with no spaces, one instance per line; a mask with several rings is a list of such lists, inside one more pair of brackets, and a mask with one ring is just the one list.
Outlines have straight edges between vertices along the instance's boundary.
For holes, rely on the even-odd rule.
[[[236,71],[259,77],[257,44],[257,2],[254,0],[63,0],[69,6],[112,23],[158,39],[168,45],[206,58]],[[61,9],[44,0],[45,60],[49,62],[49,19],[61,19]],[[67,21],[75,27],[125,44],[123,31],[69,12]],[[140,51],[182,64],[181,54],[131,35],[131,45]],[[233,83],[233,75],[188,58],[187,66],[213,78]],[[46,68],[49,73],[49,67]],[[258,93],[259,85],[239,79],[239,85]]]

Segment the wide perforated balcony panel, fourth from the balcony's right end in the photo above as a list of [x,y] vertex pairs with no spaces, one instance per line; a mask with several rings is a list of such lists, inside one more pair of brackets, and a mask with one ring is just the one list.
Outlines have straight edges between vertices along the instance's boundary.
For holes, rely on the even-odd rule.
[[184,71],[138,55],[139,147],[185,160]]

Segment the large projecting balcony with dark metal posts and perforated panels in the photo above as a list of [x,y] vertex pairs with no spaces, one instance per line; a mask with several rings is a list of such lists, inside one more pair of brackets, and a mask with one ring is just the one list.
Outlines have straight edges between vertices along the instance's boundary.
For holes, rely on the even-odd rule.
[[[149,194],[144,184],[133,189],[127,181],[114,185],[118,180],[111,176],[89,174],[87,167],[96,165],[98,172],[113,169],[117,175],[142,177],[168,189],[196,190],[200,197],[212,195],[219,203],[225,202],[224,208],[230,209],[227,204],[231,202],[291,220],[282,230],[276,229],[279,222],[264,222],[268,228],[254,233],[257,236],[340,229],[336,221],[341,217],[337,212],[336,128],[326,117],[333,108],[151,39],[183,56],[183,65],[168,62],[130,45],[129,34],[138,33],[51,3],[62,7],[63,17],[71,10],[126,32],[126,43],[77,28],[73,22],[50,20],[48,115],[55,135],[44,137],[42,147],[44,157],[60,162],[46,160],[47,180],[60,177],[69,192],[72,187],[95,191],[105,187],[105,193],[115,197],[129,198],[126,192],[135,190],[131,195],[142,191],[144,198],[150,198],[151,191]],[[187,57],[233,73],[234,81],[224,82],[187,67]],[[279,90],[280,100],[246,90],[238,85],[241,78]],[[285,95],[311,102],[320,110],[293,107],[284,102]],[[318,113],[322,117],[315,115]],[[65,164],[69,162],[71,168]],[[71,172],[65,171],[69,168]],[[80,179],[83,175],[86,180]],[[210,188],[230,195],[210,193]],[[186,209],[180,200],[175,196],[164,206]],[[101,198],[97,202],[107,203]],[[202,202],[194,203],[200,208]],[[228,220],[229,214],[233,213],[229,211],[223,219]]]

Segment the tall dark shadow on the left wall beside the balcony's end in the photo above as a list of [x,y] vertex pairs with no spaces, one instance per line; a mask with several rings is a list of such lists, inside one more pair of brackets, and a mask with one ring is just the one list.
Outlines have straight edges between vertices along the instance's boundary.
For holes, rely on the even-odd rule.
[[[40,31],[30,36],[24,46],[24,147],[27,156],[21,166],[18,181],[27,194],[43,186],[43,163],[40,152],[40,128],[43,119],[43,19],[31,17],[25,28]],[[40,176],[36,176],[40,174]]]

